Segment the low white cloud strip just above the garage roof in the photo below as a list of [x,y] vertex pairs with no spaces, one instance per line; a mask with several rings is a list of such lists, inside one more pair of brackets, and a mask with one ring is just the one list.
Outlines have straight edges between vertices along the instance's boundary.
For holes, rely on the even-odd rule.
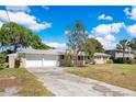
[[45,42],[50,47],[55,47],[56,49],[66,49],[65,43],[57,43],[57,42]]

